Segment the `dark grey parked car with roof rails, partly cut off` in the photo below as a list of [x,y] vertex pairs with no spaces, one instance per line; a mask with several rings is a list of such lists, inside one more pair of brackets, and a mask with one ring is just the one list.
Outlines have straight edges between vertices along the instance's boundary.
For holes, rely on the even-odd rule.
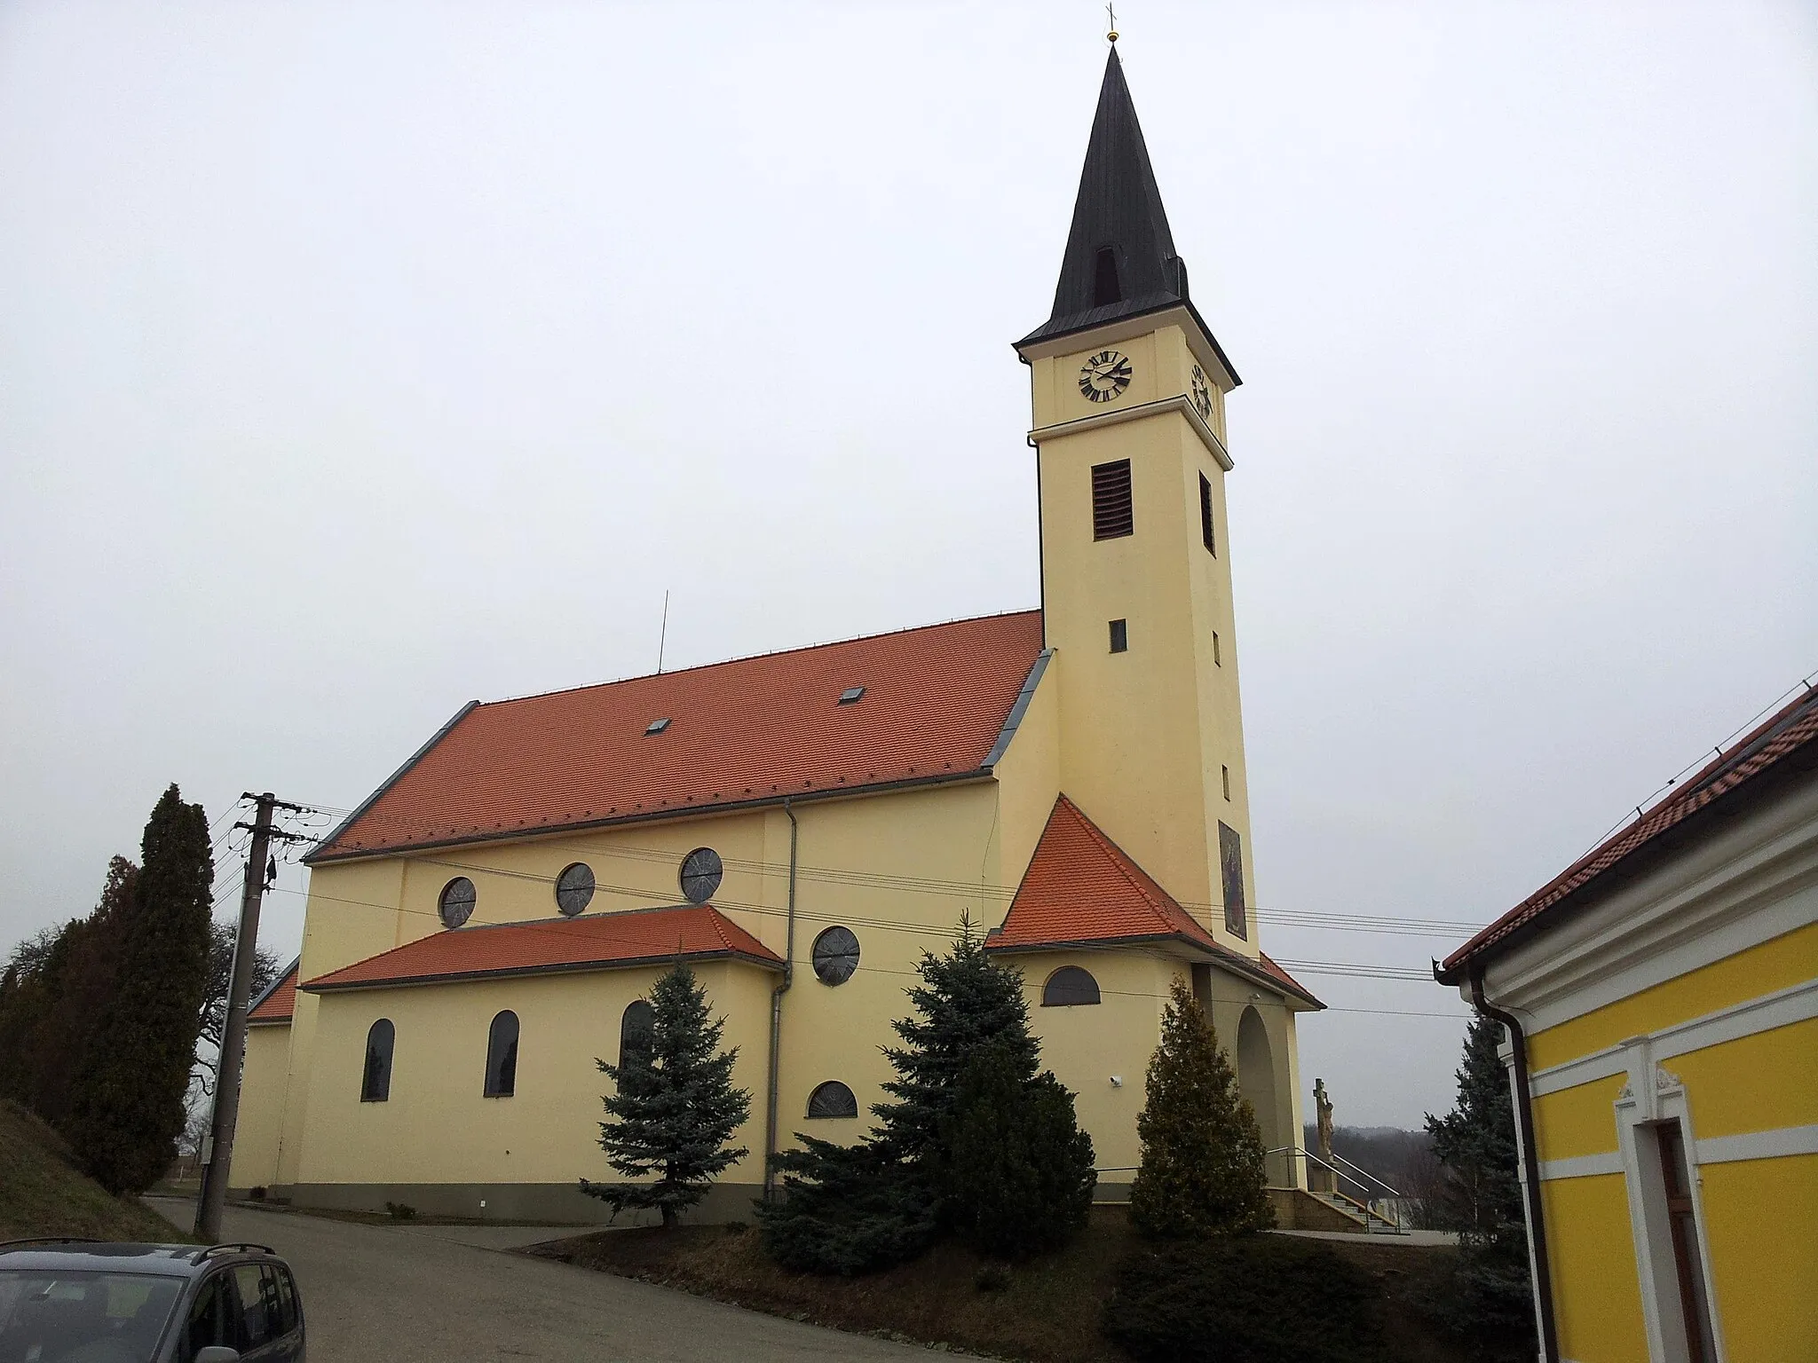
[[304,1303],[264,1245],[0,1243],[0,1363],[304,1363]]

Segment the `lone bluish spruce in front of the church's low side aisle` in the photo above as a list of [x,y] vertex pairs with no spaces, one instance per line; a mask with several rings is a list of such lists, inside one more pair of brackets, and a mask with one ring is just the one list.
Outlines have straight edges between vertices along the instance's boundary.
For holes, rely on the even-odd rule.
[[594,1063],[614,1085],[607,1094],[607,1121],[600,1149],[625,1178],[649,1183],[591,1183],[580,1190],[614,1212],[656,1209],[673,1227],[707,1196],[749,1150],[731,1149],[733,1132],[751,1116],[751,1092],[733,1087],[738,1047],[720,1050],[725,1018],[707,1012],[707,990],[685,965],[676,965],[651,989],[651,1032],[644,1047],[620,1056],[618,1065]]

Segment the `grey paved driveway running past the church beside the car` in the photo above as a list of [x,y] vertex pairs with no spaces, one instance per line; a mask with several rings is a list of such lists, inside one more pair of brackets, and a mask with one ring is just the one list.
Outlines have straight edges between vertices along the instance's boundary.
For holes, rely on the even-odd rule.
[[[189,1205],[153,1205],[187,1223]],[[309,1363],[933,1358],[925,1348],[485,1247],[560,1234],[574,1232],[375,1227],[235,1207],[222,1221],[222,1239],[271,1245],[291,1261],[309,1319]]]

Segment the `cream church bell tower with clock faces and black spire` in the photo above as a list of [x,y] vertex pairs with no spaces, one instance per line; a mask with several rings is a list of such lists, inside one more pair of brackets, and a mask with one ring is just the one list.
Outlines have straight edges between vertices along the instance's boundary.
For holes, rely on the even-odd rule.
[[1238,374],[1193,305],[1116,47],[1033,389],[1060,785],[1220,943],[1256,956],[1225,525]]

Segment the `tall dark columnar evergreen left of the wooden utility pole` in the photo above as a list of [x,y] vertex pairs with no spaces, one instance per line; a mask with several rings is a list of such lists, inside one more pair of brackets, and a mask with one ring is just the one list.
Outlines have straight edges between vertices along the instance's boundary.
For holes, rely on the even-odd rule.
[[115,989],[78,1060],[69,1141],[109,1192],[144,1192],[169,1167],[209,970],[215,856],[202,805],[171,785],[145,823]]

